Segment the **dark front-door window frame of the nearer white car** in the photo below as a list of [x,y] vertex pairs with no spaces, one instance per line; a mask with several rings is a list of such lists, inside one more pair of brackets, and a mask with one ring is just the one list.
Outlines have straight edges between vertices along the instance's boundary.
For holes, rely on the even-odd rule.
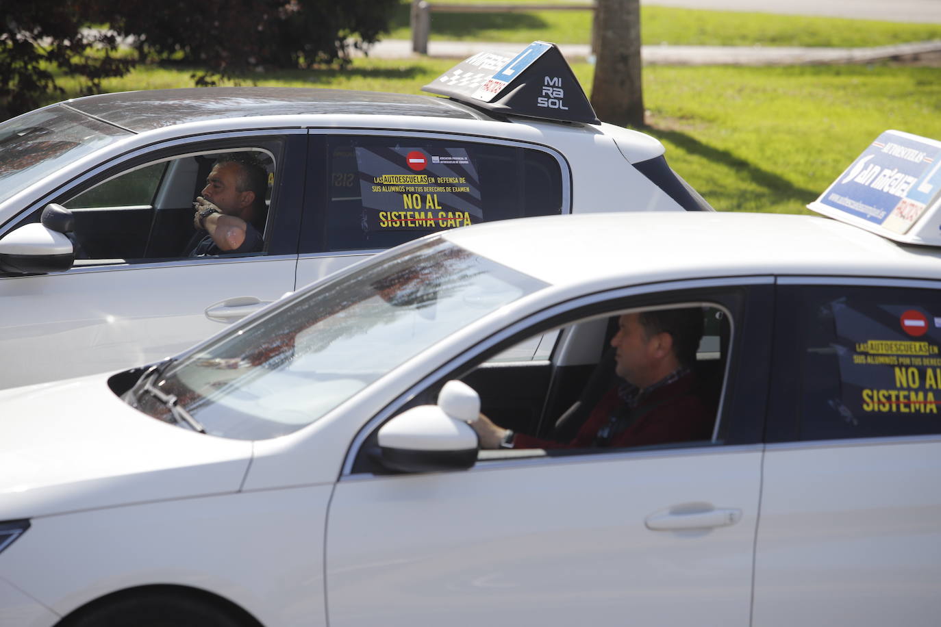
[[[582,296],[547,307],[526,318],[502,328],[484,338],[471,350],[461,353],[447,363],[411,385],[404,394],[392,400],[373,416],[354,437],[343,462],[341,478],[371,476],[366,465],[367,444],[370,436],[386,421],[413,404],[428,388],[449,379],[460,378],[470,369],[486,363],[491,356],[501,353],[516,342],[550,329],[575,321],[611,315],[623,310],[658,308],[686,303],[707,303],[725,308],[733,325],[738,327],[738,338],[729,343],[726,371],[716,413],[713,439],[722,437],[721,448],[760,444],[763,435],[764,413],[768,385],[769,365],[762,355],[771,350],[772,303],[774,277],[767,275],[730,278],[692,279],[653,285],[607,290]],[[735,319],[738,319],[736,324]],[[747,348],[746,348],[747,347]],[[763,350],[762,350],[763,349]],[[739,392],[737,392],[739,391]],[[670,447],[665,452],[688,451],[702,447]],[[611,448],[598,451],[577,451],[571,455],[519,457],[510,453],[500,462],[562,462],[572,457],[598,454],[633,455],[649,453],[649,448]],[[489,462],[487,462],[489,463]]]

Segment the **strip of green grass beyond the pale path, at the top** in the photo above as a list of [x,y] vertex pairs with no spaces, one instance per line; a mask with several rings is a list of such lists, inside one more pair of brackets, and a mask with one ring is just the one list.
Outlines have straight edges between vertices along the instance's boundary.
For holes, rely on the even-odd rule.
[[[467,0],[435,0],[466,2]],[[479,2],[479,0],[473,0]],[[506,3],[508,0],[485,0]],[[565,2],[565,0],[556,0]],[[518,2],[515,4],[526,4]],[[567,3],[572,4],[572,3]],[[411,39],[410,3],[403,0],[392,20],[389,39]],[[866,47],[941,39],[941,24],[902,24],[837,18],[710,11],[669,7],[641,8],[645,44],[713,46]],[[588,43],[591,11],[527,13],[434,13],[431,39]]]

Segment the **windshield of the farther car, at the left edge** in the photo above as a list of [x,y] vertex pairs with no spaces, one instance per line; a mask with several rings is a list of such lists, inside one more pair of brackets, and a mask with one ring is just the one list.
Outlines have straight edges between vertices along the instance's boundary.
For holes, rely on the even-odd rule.
[[56,105],[0,124],[0,203],[132,133]]

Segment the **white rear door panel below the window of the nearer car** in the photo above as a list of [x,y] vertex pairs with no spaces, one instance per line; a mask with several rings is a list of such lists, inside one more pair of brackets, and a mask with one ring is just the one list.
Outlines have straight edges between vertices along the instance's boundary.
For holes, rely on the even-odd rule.
[[936,436],[769,447],[755,624],[936,625],[939,451]]

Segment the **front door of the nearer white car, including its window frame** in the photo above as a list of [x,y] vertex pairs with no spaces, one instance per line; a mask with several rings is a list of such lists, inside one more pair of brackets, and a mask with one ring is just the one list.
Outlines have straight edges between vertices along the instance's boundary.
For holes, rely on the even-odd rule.
[[[565,322],[642,306],[726,312],[725,359],[705,365],[723,394],[707,441],[482,451],[468,471],[394,475],[371,465],[365,435],[330,502],[330,624],[748,625],[769,283],[598,296]],[[529,336],[546,330],[534,322]],[[416,398],[505,348],[469,355]]]

